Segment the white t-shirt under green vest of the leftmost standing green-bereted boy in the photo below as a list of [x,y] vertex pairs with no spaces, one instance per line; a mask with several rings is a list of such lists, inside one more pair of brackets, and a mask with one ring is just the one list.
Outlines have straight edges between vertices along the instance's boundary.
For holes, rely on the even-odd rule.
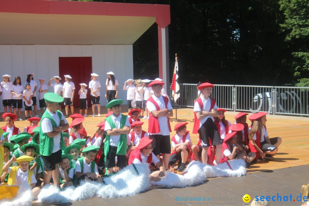
[[[50,116],[53,117],[53,119],[56,122],[57,127],[60,126],[60,121],[64,120],[64,124],[67,124],[68,122],[66,121],[66,118],[64,118],[63,114],[61,113],[61,120],[59,120],[58,117],[58,112],[55,111],[55,114],[53,114],[52,112],[50,112],[48,109],[46,110]],[[50,120],[48,118],[44,118],[41,121],[41,128],[42,128],[42,132],[43,133],[47,133],[47,132],[52,132],[53,131],[53,126],[52,123],[50,122]],[[57,136],[53,137],[54,138],[54,146],[53,146],[53,152],[57,152],[60,149],[60,138],[61,138],[61,134],[58,134]]]

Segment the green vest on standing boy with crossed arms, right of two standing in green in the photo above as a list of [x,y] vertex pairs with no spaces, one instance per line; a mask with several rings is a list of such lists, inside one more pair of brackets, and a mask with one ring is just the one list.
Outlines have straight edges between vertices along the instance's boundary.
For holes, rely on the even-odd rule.
[[[128,118],[127,116],[121,114],[120,129],[122,129],[125,126],[125,122],[126,122],[127,118]],[[105,119],[105,121],[108,122],[108,124],[111,126],[112,129],[116,128],[115,123],[112,121],[112,116],[107,117]],[[105,143],[104,143],[104,155],[105,155],[105,157],[108,155],[109,139],[110,139],[110,136],[106,135]],[[126,134],[120,135],[116,154],[118,154],[118,155],[126,155],[127,154],[127,135]]]

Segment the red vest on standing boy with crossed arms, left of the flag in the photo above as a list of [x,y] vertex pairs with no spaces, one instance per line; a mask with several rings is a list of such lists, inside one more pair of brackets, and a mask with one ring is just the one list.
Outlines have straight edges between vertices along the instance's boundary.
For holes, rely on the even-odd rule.
[[[162,96],[162,97],[163,97],[163,100],[164,100],[164,103],[165,103],[165,108],[167,108],[167,103],[168,103],[169,100],[168,100],[167,97],[164,97],[164,96]],[[150,101],[151,103],[153,103],[155,105],[155,108],[156,108],[157,111],[160,111],[159,105],[152,98],[152,96],[147,100],[147,102],[148,101]],[[171,132],[172,130],[171,130],[171,124],[170,124],[169,120],[170,120],[170,118],[167,117],[168,129]],[[157,134],[157,133],[160,132],[158,117],[152,116],[150,112],[149,112],[148,132],[153,133],[153,134]]]

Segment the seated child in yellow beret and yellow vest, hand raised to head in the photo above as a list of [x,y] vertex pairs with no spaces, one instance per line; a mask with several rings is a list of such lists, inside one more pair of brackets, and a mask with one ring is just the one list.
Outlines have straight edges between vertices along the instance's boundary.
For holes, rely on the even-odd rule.
[[[8,185],[22,185],[23,183],[28,183],[32,188],[32,193],[34,196],[39,194],[40,187],[36,187],[36,178],[31,170],[29,170],[30,162],[33,160],[33,157],[27,155],[20,156],[19,158],[12,157],[6,164],[3,166],[3,171],[9,173],[9,178],[7,181]],[[17,162],[18,167],[10,167],[10,164]]]

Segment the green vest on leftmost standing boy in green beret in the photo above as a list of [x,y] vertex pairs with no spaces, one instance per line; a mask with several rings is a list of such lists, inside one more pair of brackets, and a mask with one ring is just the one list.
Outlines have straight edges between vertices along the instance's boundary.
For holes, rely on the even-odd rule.
[[[61,121],[61,111],[57,111],[59,120]],[[55,120],[53,119],[52,116],[50,116],[49,112],[46,110],[44,114],[42,115],[40,125],[42,124],[42,120],[44,118],[48,118],[50,122],[52,123],[53,127],[58,127],[59,125],[56,124]],[[63,137],[62,137],[62,132],[60,133],[60,149],[64,150],[66,146],[64,145]],[[49,156],[51,153],[53,153],[53,147],[54,147],[54,138],[50,138],[46,133],[43,133],[42,127],[40,127],[40,154],[43,156]]]

